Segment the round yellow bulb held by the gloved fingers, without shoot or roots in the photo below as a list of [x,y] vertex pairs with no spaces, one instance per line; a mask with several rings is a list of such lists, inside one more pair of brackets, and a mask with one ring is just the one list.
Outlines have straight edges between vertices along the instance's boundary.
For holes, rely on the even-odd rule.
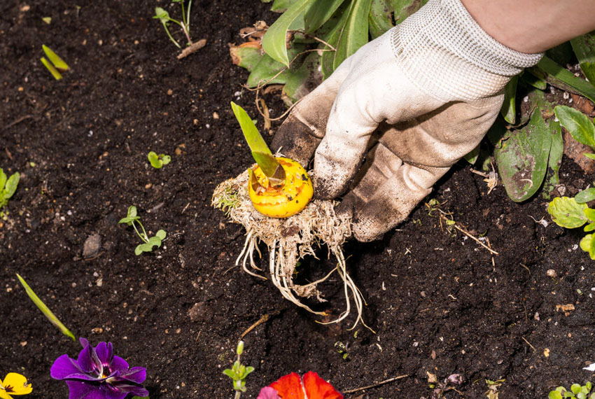
[[[304,209],[314,194],[306,169],[289,158],[276,157],[285,170],[285,182],[274,187],[256,165],[251,169],[248,194],[255,209],[272,218],[288,218]],[[250,171],[248,171],[250,172]]]

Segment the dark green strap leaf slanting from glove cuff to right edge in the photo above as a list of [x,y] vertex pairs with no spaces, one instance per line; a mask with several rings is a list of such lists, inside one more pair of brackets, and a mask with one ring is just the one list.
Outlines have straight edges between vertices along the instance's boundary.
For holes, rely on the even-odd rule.
[[552,86],[567,92],[580,94],[595,102],[595,87],[587,80],[577,78],[572,72],[556,64],[548,57],[542,57],[541,61],[537,65],[528,68],[528,71]]

